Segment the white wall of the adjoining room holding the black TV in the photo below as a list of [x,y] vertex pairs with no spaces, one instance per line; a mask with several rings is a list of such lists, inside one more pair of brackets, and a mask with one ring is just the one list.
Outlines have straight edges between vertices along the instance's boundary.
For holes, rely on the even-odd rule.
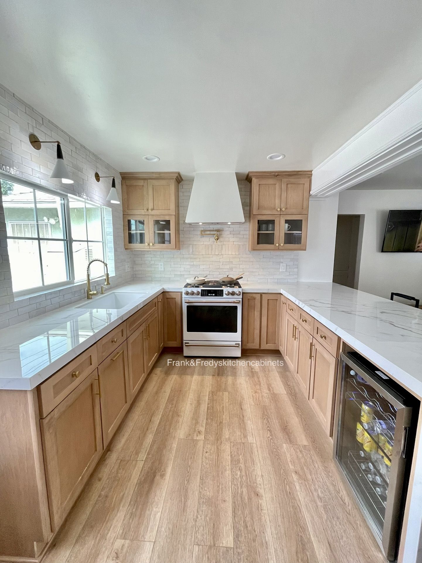
[[422,209],[421,190],[346,190],[338,213],[365,215],[358,289],[389,299],[391,292],[422,299],[422,254],[381,252],[390,209]]

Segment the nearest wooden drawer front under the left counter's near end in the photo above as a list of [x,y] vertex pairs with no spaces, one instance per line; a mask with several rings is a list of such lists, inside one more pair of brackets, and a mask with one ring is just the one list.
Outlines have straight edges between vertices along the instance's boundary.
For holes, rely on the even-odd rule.
[[98,365],[97,346],[91,346],[38,387],[39,415],[44,418]]

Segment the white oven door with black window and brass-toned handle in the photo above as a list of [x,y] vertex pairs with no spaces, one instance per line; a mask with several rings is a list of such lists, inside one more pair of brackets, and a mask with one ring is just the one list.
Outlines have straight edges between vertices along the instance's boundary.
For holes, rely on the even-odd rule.
[[238,341],[242,338],[242,301],[201,299],[183,302],[183,339]]

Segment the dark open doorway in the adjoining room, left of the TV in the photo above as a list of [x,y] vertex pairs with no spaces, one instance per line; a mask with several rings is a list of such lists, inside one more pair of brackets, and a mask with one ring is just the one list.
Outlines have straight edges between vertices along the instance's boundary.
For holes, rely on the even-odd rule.
[[333,283],[357,289],[363,216],[338,215],[335,234]]

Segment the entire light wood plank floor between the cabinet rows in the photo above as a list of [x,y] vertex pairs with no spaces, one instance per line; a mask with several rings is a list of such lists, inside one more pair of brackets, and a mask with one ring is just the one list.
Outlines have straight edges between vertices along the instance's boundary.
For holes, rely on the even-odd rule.
[[385,562],[287,368],[167,359],[45,563]]

